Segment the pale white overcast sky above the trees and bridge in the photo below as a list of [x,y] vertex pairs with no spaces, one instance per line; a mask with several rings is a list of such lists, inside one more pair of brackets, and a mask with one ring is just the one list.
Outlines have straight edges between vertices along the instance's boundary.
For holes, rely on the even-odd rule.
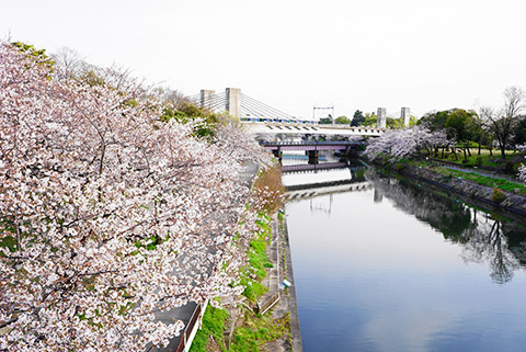
[[0,35],[187,95],[233,87],[296,116],[398,117],[526,89],[525,14],[524,0],[10,0]]

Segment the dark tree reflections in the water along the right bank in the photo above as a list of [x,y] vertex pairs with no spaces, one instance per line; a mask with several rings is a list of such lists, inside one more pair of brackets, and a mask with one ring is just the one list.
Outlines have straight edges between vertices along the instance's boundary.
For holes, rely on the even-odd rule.
[[494,282],[506,283],[512,280],[513,271],[526,266],[526,229],[518,223],[477,211],[425,186],[382,178],[374,169],[366,177],[398,208],[430,224],[444,238],[462,243],[466,261],[488,261]]

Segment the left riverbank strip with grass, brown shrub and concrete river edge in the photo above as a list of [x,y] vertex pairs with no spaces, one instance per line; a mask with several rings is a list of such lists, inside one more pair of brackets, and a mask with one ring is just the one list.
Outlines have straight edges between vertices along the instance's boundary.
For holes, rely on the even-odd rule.
[[[207,308],[191,351],[302,351],[286,220],[278,212],[284,192],[279,169],[254,178],[256,171],[248,170],[247,185],[264,196],[264,207],[255,220],[259,230],[242,249],[244,291],[237,302],[221,302],[221,309]],[[290,288],[281,286],[284,279]]]

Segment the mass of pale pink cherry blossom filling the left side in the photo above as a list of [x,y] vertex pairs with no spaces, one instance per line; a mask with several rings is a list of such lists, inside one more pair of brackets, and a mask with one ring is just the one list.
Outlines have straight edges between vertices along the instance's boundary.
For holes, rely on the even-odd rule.
[[0,350],[165,345],[183,323],[157,311],[242,291],[238,173],[264,158],[229,124],[210,143],[160,121],[129,77],[53,79],[30,54],[0,43]]

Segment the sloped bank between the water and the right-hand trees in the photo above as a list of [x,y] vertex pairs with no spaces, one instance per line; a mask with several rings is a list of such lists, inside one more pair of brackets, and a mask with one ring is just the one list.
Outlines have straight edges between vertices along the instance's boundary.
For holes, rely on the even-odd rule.
[[453,177],[451,174],[445,175],[427,168],[411,164],[397,163],[390,166],[388,169],[403,177],[425,182],[481,202],[489,207],[501,208],[511,214],[526,217],[526,196],[524,194],[504,191],[494,186],[487,186],[459,177]]

